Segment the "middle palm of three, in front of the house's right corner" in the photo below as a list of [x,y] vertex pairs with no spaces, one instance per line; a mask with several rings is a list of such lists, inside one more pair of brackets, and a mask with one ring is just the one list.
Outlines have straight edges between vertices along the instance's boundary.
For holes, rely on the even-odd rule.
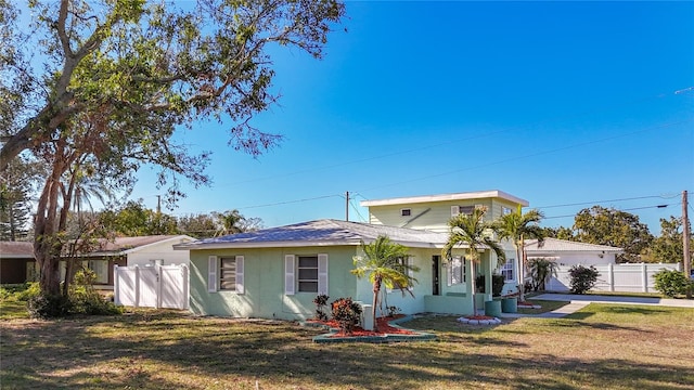
[[[441,255],[451,261],[454,247],[466,247],[467,256],[472,265],[472,277],[470,278],[473,294],[473,313],[477,314],[477,300],[475,299],[475,265],[479,264],[479,249],[488,247],[499,259],[505,261],[506,255],[499,244],[493,239],[496,225],[483,222],[485,210],[475,208],[471,214],[458,214],[448,221],[449,237]],[[492,235],[488,234],[492,233]]]

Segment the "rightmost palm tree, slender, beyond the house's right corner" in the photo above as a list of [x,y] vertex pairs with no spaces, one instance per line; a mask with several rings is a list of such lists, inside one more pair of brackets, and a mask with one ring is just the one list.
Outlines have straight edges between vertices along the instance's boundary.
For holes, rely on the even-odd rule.
[[538,225],[544,216],[541,211],[529,210],[523,213],[520,206],[496,222],[499,238],[509,238],[516,249],[516,282],[518,283],[518,299],[525,301],[525,239],[537,239],[538,245],[544,243],[544,230]]

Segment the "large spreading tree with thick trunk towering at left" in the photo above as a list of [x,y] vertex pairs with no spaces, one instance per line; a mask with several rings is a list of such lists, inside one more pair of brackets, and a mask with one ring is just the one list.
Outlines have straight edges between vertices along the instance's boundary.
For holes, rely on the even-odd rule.
[[209,158],[177,144],[177,128],[216,119],[239,151],[275,146],[280,135],[250,122],[278,99],[271,50],[320,58],[345,12],[334,0],[36,0],[28,8],[27,28],[15,3],[0,0],[0,171],[25,151],[49,167],[35,252],[50,295],[60,290],[62,232],[81,170],[127,195],[134,172],[155,167],[175,202],[184,195],[181,178],[208,183]]

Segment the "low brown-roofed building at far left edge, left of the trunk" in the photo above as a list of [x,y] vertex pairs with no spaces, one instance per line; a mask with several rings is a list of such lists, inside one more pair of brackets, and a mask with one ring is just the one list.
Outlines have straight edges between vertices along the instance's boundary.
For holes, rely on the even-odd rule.
[[20,284],[37,276],[34,243],[0,242],[0,284]]

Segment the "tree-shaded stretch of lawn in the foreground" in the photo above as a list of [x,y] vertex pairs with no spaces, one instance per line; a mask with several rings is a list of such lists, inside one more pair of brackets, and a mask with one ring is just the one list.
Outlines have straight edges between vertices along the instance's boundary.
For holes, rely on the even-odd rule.
[[694,386],[694,378],[676,365],[567,359],[561,352],[558,358],[499,353],[528,346],[494,339],[491,333],[486,336],[490,330],[463,329],[459,334],[468,337],[458,342],[317,344],[310,339],[320,330],[288,322],[187,315],[0,325],[3,389],[5,379],[17,384],[15,388],[92,389],[250,388],[255,380],[260,388],[305,389],[427,384],[519,389]]

